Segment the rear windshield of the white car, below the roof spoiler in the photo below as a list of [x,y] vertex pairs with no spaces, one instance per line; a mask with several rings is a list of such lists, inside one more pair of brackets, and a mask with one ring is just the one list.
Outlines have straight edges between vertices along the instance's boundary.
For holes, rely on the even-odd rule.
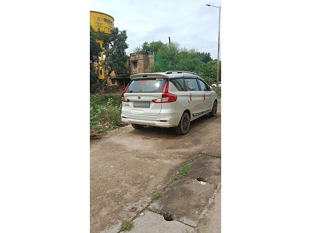
[[127,93],[160,93],[163,92],[163,88],[167,79],[165,78],[150,78],[150,79],[135,79],[132,80],[127,88]]

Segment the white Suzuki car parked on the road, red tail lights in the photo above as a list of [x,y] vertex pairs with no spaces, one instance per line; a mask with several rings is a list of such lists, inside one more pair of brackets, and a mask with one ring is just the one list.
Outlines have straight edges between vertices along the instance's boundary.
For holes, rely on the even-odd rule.
[[121,120],[135,129],[144,126],[175,127],[189,132],[190,121],[216,116],[217,94],[196,73],[166,71],[130,76],[122,96]]

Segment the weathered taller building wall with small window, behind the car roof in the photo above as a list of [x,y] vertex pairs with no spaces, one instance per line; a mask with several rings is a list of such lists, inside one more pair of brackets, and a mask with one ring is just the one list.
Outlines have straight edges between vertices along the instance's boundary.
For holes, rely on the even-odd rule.
[[[137,67],[135,67],[136,64]],[[151,67],[153,64],[153,51],[130,53],[131,74],[148,73],[149,67]]]

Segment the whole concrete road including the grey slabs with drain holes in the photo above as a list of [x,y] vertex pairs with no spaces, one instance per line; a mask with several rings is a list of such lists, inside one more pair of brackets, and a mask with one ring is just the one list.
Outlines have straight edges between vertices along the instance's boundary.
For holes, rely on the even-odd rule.
[[[173,175],[190,163],[193,166],[187,177],[172,183]],[[129,125],[104,134],[102,139],[92,140],[90,232],[119,233],[124,221],[133,223],[131,232],[151,232],[146,219],[152,225],[159,221],[158,226],[163,226],[159,232],[172,232],[170,229],[179,229],[178,226],[179,232],[195,232],[201,224],[197,224],[197,217],[203,219],[202,227],[209,229],[205,219],[220,188],[220,164],[221,104],[215,118],[202,116],[192,121],[190,133],[184,136],[170,128],[135,130]],[[207,185],[200,186],[198,177]],[[183,189],[178,190],[176,182]],[[153,201],[155,193],[162,193],[163,197]],[[192,203],[186,213],[179,208],[178,201],[171,202],[178,195],[180,200],[189,195],[188,198],[199,198],[203,202]],[[163,215],[170,208],[174,219],[166,221]],[[142,223],[145,225],[139,227]]]

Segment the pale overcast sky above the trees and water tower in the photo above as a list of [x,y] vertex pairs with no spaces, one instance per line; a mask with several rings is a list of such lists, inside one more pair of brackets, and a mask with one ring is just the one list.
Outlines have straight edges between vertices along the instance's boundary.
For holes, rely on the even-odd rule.
[[114,17],[126,30],[127,53],[144,41],[178,42],[181,47],[210,52],[217,59],[220,0],[90,0],[90,10]]

